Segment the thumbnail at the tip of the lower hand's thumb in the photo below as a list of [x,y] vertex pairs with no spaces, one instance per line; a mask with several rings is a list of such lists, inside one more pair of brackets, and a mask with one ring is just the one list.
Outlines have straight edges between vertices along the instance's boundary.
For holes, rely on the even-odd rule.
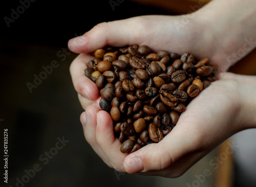
[[130,158],[124,165],[124,169],[127,173],[143,172],[144,164],[138,156]]

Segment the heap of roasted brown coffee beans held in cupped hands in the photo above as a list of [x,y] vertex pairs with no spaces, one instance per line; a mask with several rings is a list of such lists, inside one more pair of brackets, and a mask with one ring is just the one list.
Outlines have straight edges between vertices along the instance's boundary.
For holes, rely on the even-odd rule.
[[100,48],[94,56],[84,72],[99,88],[100,108],[111,115],[123,153],[161,141],[186,105],[217,79],[218,66],[189,52],[133,45]]

